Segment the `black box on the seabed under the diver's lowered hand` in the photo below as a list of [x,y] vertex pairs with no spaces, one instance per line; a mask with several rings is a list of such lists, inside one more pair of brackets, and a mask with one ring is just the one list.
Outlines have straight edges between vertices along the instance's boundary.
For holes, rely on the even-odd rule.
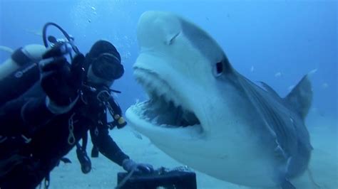
[[197,189],[196,174],[187,166],[158,168],[153,173],[118,173],[116,189]]

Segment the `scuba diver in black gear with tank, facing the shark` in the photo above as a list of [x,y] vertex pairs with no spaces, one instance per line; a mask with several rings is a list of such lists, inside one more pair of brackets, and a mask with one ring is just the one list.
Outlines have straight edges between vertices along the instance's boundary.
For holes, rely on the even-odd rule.
[[[43,34],[48,47],[45,30]],[[6,72],[0,77],[1,189],[36,188],[43,179],[48,188],[49,173],[74,146],[83,173],[88,173],[88,131],[92,156],[99,151],[127,172],[153,171],[150,164],[135,163],[108,134],[108,129],[127,124],[110,89],[124,72],[118,50],[97,41],[85,56],[68,37],[67,42],[48,39],[53,46],[47,50],[39,45],[20,48],[0,67]],[[76,55],[69,61],[65,55],[72,50]],[[113,121],[108,122],[107,112]]]

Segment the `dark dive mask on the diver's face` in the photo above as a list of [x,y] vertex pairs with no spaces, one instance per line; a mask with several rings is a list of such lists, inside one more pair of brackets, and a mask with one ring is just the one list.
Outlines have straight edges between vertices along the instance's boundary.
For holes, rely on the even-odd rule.
[[103,80],[117,80],[124,73],[123,65],[116,56],[111,53],[102,53],[93,59],[92,70],[96,77]]

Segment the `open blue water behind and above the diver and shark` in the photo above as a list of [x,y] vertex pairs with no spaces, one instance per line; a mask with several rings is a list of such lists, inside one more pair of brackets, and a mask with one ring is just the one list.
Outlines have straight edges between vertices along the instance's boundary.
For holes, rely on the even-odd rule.
[[[122,91],[118,102],[126,110],[136,99],[145,99],[132,65],[138,56],[138,18],[148,10],[171,11],[193,21],[220,43],[236,70],[252,81],[267,82],[282,97],[317,69],[311,112],[337,118],[337,1],[0,0],[0,45],[42,44],[42,28],[49,21],[68,31],[82,53],[99,39],[111,41],[126,69],[113,86]],[[6,58],[9,53],[0,50],[0,63]]]

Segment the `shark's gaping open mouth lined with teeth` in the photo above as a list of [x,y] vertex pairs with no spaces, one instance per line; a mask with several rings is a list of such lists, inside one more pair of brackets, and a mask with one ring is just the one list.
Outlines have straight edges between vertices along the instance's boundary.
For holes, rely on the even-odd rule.
[[200,126],[194,112],[182,106],[168,82],[154,72],[135,68],[136,80],[143,85],[149,100],[133,105],[133,112],[155,126],[186,127]]

